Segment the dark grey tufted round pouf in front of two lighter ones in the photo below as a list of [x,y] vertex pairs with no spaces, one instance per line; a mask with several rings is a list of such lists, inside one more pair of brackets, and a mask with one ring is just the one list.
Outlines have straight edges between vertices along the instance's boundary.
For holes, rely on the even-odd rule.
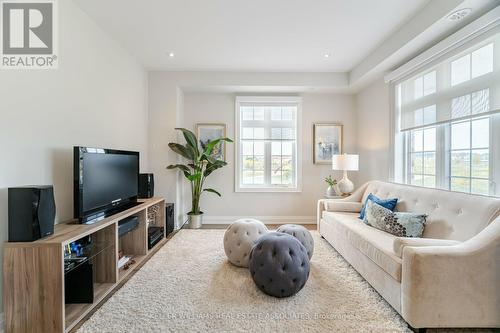
[[297,293],[309,277],[306,248],[293,236],[269,232],[250,253],[250,274],[257,287],[274,297]]

